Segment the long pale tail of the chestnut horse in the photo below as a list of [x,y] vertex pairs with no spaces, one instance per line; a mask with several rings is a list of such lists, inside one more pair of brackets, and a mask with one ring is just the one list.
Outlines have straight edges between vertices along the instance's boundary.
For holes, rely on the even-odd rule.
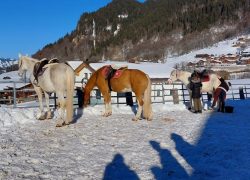
[[152,105],[151,105],[151,80],[148,75],[148,85],[147,88],[144,92],[144,97],[143,97],[143,116],[147,120],[152,120],[153,119],[153,111],[152,111]]

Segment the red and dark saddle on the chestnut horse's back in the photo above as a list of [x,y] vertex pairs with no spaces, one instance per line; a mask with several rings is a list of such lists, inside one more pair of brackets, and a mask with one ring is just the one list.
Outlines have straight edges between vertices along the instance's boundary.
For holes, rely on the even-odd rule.
[[102,70],[102,75],[105,77],[105,79],[108,81],[109,90],[112,91],[110,80],[112,78],[119,78],[122,75],[122,72],[127,69],[127,66],[114,66],[114,65],[107,65]]

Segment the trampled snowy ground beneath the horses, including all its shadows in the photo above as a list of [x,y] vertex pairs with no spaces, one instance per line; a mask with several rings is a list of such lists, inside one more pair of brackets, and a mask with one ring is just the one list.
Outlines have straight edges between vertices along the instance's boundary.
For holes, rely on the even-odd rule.
[[0,107],[0,179],[249,179],[250,99],[227,101],[234,113],[153,105],[151,122],[113,106],[75,110],[56,128],[37,108]]

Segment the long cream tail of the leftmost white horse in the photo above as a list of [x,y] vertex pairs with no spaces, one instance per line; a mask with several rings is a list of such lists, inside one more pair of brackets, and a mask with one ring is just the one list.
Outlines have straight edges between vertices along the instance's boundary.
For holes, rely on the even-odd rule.
[[72,122],[73,119],[73,96],[74,96],[74,72],[71,68],[66,70],[66,83],[67,83],[67,92],[66,92],[66,113],[67,113],[67,122]]

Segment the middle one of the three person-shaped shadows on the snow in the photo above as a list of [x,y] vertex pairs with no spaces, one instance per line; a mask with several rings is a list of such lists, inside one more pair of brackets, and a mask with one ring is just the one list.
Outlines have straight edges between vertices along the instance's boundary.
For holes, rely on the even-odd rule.
[[162,149],[156,141],[150,141],[150,145],[158,152],[162,167],[153,166],[151,171],[157,180],[164,179],[187,179],[189,178],[185,169],[177,162],[169,150]]

